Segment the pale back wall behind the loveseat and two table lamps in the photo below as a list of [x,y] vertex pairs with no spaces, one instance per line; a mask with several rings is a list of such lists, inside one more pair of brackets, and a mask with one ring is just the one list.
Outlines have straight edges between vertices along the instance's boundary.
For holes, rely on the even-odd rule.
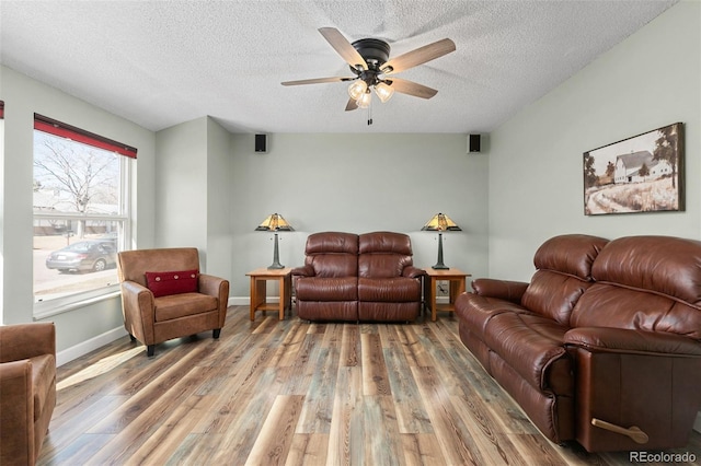
[[232,136],[232,295],[248,296],[245,273],[273,261],[273,242],[255,228],[277,212],[295,228],[280,233],[280,263],[300,266],[310,233],[397,231],[412,238],[414,264],[436,263],[436,234],[421,228],[435,213],[462,232],[444,235],[445,263],[487,271],[487,154],[467,154],[466,135]]

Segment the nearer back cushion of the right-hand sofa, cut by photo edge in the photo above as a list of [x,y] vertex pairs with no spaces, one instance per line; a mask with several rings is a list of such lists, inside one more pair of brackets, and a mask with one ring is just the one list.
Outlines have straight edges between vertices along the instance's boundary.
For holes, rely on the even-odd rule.
[[591,275],[597,284],[577,302],[573,327],[701,339],[701,242],[671,236],[613,240],[596,258]]

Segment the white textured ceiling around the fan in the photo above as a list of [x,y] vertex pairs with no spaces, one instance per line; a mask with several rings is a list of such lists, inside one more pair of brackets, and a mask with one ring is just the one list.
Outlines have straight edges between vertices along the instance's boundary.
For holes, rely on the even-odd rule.
[[[676,1],[0,0],[0,60],[151,130],[209,115],[232,132],[489,132]],[[368,127],[346,83],[280,85],[349,74],[324,26],[391,57],[457,50],[398,74],[435,97],[375,100]]]

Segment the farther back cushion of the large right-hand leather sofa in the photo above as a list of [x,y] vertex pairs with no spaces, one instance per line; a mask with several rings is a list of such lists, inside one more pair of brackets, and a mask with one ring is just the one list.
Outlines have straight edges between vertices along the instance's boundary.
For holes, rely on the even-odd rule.
[[575,304],[591,284],[591,265],[608,240],[568,234],[544,242],[536,252],[536,273],[521,298],[528,310],[568,325]]

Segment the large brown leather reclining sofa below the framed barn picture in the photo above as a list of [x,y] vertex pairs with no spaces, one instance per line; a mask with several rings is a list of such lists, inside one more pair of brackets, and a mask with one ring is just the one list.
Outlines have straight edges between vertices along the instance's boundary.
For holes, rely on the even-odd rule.
[[701,242],[562,235],[480,279],[460,338],[530,420],[589,452],[683,446],[701,404]]

